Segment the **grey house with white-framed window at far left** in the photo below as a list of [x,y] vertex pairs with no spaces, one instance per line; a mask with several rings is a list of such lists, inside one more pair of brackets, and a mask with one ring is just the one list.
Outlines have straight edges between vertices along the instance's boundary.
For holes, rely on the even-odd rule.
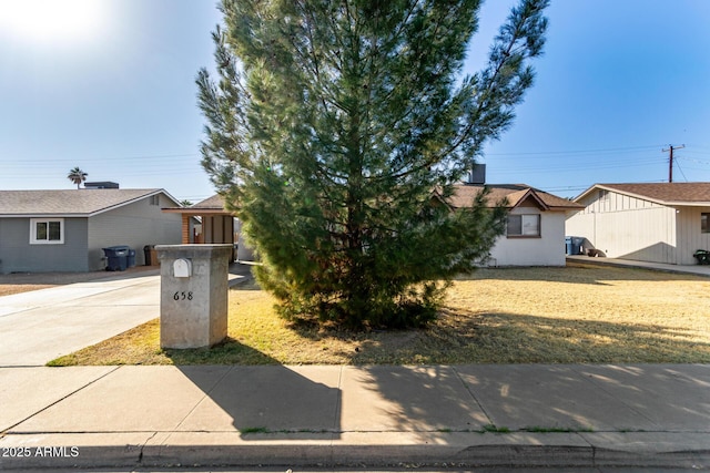
[[180,244],[180,207],[163,189],[0,191],[0,273],[94,271],[102,248]]

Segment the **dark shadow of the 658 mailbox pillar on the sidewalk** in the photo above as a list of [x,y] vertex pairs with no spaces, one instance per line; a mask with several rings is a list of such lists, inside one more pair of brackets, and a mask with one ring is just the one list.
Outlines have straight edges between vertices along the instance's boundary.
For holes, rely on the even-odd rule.
[[[173,359],[180,359],[179,350],[171,351]],[[216,381],[202,377],[194,366],[176,366],[206,394],[181,430],[237,430],[246,441],[294,440],[294,434],[300,440],[339,435],[338,372],[320,367],[284,367],[264,353],[253,356],[270,364],[223,367]]]

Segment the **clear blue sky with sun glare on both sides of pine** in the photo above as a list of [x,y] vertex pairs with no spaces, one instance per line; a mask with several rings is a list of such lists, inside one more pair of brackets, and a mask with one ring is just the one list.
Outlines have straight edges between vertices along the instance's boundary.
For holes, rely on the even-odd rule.
[[[481,9],[467,73],[515,0]],[[0,189],[89,181],[213,194],[194,78],[212,65],[212,0],[0,0]],[[552,0],[536,83],[488,182],[571,197],[595,183],[710,181],[710,1]]]

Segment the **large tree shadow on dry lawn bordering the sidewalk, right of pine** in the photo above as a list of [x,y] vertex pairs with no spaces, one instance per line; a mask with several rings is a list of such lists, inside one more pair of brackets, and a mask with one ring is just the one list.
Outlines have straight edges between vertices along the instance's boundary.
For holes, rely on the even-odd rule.
[[293,330],[311,341],[354,343],[342,353],[351,364],[710,362],[710,342],[693,340],[690,329],[458,308],[442,310],[426,329]]

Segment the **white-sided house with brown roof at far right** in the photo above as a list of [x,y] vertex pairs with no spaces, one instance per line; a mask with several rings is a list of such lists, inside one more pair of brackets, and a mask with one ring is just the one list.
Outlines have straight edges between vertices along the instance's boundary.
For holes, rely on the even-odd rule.
[[710,249],[710,183],[596,184],[575,202],[567,235],[608,257],[692,265]]

